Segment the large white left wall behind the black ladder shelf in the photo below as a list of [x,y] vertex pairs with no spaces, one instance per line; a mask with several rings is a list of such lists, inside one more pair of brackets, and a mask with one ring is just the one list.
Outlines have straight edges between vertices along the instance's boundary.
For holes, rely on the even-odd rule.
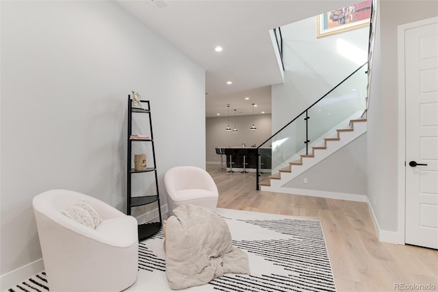
[[131,90],[151,100],[166,204],[167,169],[205,167],[205,71],[117,3],[1,1],[2,290],[41,258],[34,195],[68,188],[125,210]]

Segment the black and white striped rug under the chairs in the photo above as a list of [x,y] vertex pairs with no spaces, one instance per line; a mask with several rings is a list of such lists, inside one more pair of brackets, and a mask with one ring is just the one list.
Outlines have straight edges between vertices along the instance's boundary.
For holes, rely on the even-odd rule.
[[[248,254],[250,275],[227,274],[187,291],[336,291],[320,220],[218,209],[233,245]],[[138,280],[125,291],[171,291],[163,232],[139,246]],[[48,291],[44,272],[9,291]]]

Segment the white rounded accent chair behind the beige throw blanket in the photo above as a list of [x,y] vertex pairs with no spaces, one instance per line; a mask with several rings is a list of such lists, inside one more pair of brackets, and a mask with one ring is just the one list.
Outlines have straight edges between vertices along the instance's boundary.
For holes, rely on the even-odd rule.
[[169,214],[180,205],[192,204],[216,212],[218,187],[213,178],[199,167],[173,167],[164,175]]

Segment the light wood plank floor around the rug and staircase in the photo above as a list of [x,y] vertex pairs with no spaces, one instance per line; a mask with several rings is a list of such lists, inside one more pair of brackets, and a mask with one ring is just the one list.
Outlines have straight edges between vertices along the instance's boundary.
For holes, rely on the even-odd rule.
[[338,291],[403,290],[398,283],[438,291],[438,251],[379,242],[366,203],[256,191],[255,173],[228,173],[220,165],[207,171],[218,186],[218,208],[319,217]]

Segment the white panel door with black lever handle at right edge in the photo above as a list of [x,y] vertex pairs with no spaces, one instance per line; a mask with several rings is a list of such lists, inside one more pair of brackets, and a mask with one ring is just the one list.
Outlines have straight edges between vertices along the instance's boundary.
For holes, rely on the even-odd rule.
[[[438,249],[438,23],[407,29],[406,243]],[[417,165],[415,165],[417,164]]]

